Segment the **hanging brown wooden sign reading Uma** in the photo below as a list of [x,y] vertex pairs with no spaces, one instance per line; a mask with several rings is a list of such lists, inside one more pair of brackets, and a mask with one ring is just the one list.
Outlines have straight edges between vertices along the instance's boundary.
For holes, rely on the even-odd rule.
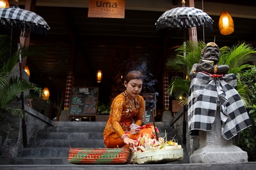
[[124,18],[125,0],[90,0],[88,17]]

